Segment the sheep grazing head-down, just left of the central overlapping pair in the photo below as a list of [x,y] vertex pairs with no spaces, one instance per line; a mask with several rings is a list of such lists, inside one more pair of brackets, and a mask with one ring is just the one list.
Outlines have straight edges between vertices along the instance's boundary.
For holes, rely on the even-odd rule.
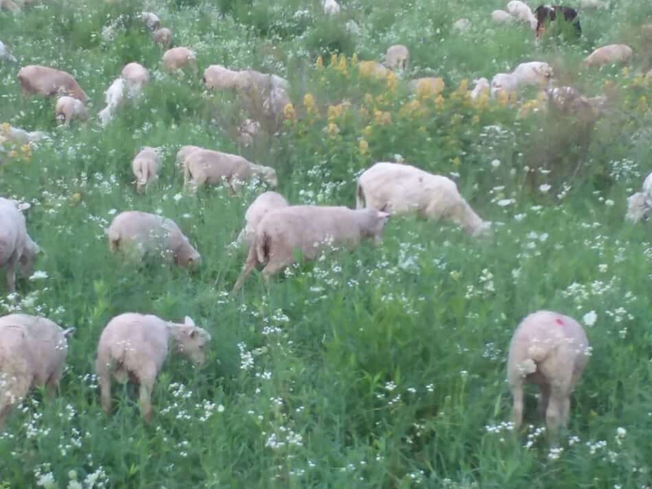
[[145,255],[158,254],[165,263],[197,268],[201,255],[193,248],[172,219],[140,211],[125,211],[104,230],[111,252],[139,262]]

